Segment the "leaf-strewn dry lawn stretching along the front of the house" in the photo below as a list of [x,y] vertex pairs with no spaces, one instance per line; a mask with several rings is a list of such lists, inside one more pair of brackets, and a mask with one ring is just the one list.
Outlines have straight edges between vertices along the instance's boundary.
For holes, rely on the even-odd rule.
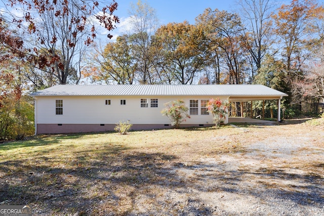
[[[231,172],[211,170],[225,165],[225,161],[219,163],[222,156],[237,159],[246,156],[250,153],[246,147],[253,143],[266,145],[273,135],[296,139],[306,134],[301,129],[309,129],[303,124],[240,127],[247,130],[224,125],[218,129],[133,131],[128,135],[42,135],[3,143],[0,144],[0,204],[31,204],[35,215],[154,214],[154,209],[167,213],[168,209],[179,207],[179,203],[183,205],[181,209],[188,208],[185,202],[174,201],[175,191],[182,191],[179,193],[182,198],[192,196],[185,192],[188,188],[221,192],[228,181],[238,183],[244,181],[246,175],[284,179],[287,175],[277,177],[282,172],[279,168],[253,171],[253,168],[240,165],[238,170]],[[314,142],[321,141],[315,129],[307,133]],[[318,144],[316,151],[320,151],[321,146]],[[301,154],[303,151],[301,149]],[[215,163],[204,164],[203,158]],[[270,160],[263,163],[271,166]],[[322,175],[322,162],[307,161],[306,164],[296,159],[285,164],[305,169],[309,168],[307,164],[313,164],[307,178],[319,181]],[[199,167],[205,172],[196,171]],[[189,174],[191,176],[185,176]],[[209,188],[216,183],[223,185]],[[152,201],[152,197],[156,199]],[[149,209],[153,213],[147,213]]]

